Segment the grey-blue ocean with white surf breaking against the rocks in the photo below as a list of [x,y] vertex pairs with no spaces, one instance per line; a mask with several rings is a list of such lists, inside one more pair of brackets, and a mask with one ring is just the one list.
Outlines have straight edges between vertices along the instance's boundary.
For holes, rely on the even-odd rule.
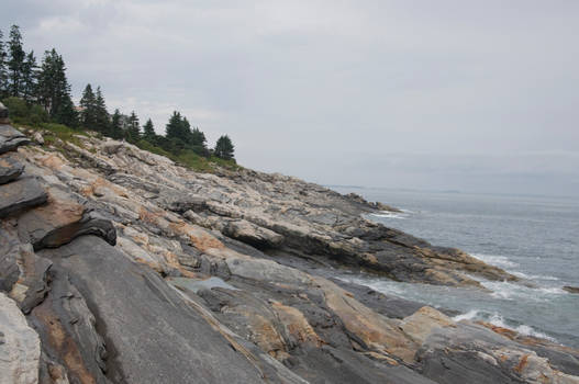
[[500,267],[535,287],[480,280],[490,292],[410,284],[370,275],[341,279],[386,294],[460,312],[475,319],[579,348],[579,200],[571,197],[416,192],[333,188],[379,201],[402,213],[368,218],[428,240],[456,247]]

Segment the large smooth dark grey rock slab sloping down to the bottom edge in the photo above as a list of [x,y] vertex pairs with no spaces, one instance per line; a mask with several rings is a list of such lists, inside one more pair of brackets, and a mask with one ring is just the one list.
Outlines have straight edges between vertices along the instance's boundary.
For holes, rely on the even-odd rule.
[[155,272],[99,237],[45,249],[104,329],[108,376],[123,383],[263,383],[260,371]]

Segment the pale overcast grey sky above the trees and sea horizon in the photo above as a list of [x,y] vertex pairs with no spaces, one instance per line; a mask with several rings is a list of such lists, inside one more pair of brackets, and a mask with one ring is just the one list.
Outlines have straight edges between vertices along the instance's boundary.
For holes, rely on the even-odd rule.
[[579,1],[3,0],[75,100],[323,184],[579,197]]

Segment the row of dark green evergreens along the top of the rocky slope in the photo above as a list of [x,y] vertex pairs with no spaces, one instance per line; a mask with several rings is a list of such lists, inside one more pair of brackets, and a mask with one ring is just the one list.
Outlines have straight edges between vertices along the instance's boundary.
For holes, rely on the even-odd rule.
[[24,50],[18,25],[12,25],[5,42],[0,30],[0,100],[12,116],[26,118],[32,124],[53,122],[137,145],[151,144],[170,154],[193,151],[234,160],[234,146],[227,135],[222,135],[214,148],[209,148],[204,133],[191,127],[187,117],[177,111],[169,117],[165,135],[158,135],[151,118],[141,126],[134,111],[129,115],[119,109],[109,113],[100,87],[93,90],[88,83],[79,105],[75,106],[63,56],[54,48],[46,50],[38,65],[34,52]]

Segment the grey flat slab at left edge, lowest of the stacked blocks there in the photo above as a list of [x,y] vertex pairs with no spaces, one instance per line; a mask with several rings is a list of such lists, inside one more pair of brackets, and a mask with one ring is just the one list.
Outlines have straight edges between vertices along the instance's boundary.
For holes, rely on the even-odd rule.
[[46,202],[47,195],[33,177],[20,178],[0,185],[0,217],[26,210]]

